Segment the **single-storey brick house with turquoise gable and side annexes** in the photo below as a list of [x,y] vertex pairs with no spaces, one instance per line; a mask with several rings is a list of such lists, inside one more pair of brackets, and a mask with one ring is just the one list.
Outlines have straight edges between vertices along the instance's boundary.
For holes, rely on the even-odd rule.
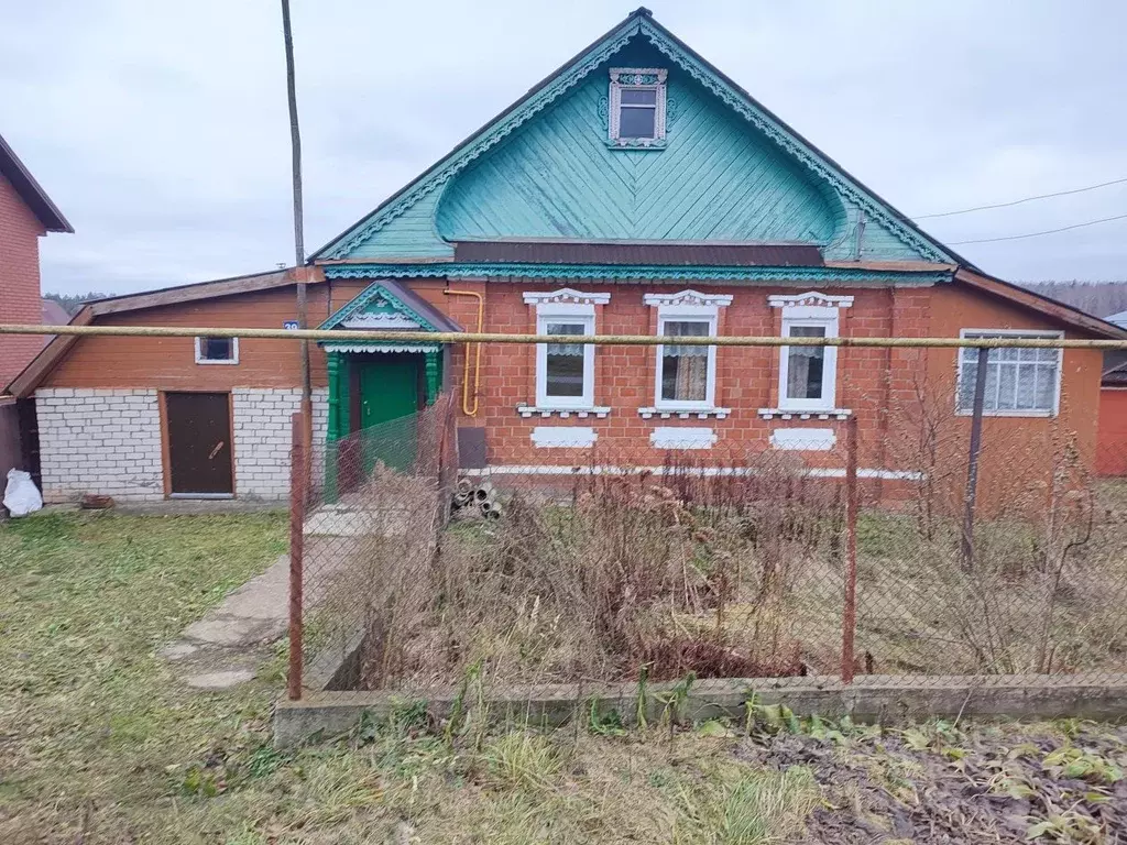
[[[307,267],[92,303],[74,321],[281,328],[295,274],[328,330],[774,337],[1127,337],[934,240],[639,9]],[[9,386],[38,408],[48,498],[286,491],[298,345],[57,338]],[[314,350],[314,434],[338,441],[460,399],[464,465],[569,471],[577,448],[659,466],[779,452],[911,484],[899,410],[969,427],[974,353],[343,339]],[[1040,472],[1067,430],[1095,448],[1099,352],[991,358],[992,434]],[[993,463],[991,463],[993,461]],[[1039,463],[1038,463],[1039,461]],[[1024,464],[1022,464],[1024,465]],[[1013,452],[984,465],[1012,477]],[[1005,472],[997,470],[1005,469]],[[1003,495],[1000,490],[993,495]]]

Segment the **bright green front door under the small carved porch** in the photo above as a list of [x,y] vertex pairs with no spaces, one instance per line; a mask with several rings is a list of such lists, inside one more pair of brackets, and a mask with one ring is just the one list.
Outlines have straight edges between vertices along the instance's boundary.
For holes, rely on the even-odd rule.
[[352,428],[363,441],[365,474],[376,461],[406,471],[415,462],[423,356],[372,353],[355,361],[356,413]]

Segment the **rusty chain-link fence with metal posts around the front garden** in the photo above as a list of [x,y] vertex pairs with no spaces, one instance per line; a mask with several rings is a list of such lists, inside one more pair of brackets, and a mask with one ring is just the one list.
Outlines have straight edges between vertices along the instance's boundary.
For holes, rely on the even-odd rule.
[[763,418],[459,470],[445,395],[328,444],[303,518],[304,686],[1118,681],[1127,479],[1097,474],[1067,415],[975,413],[923,381],[879,407],[854,392],[798,445]]

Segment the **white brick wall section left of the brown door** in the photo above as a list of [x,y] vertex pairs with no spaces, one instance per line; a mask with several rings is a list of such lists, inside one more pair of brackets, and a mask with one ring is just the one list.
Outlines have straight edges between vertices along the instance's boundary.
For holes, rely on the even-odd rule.
[[46,501],[165,498],[157,391],[45,388],[35,407]]

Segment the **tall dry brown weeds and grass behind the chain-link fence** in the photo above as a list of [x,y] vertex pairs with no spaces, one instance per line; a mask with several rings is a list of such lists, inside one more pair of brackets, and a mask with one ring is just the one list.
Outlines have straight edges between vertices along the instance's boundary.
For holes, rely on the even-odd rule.
[[[1061,454],[1047,487],[977,521],[970,566],[959,508],[862,515],[857,671],[1127,670],[1121,491]],[[513,492],[502,519],[454,523],[437,550],[429,523],[381,541],[344,590],[366,597],[362,686],[425,694],[473,666],[498,686],[837,671],[841,491],[757,460]],[[425,487],[396,489],[408,481]]]

